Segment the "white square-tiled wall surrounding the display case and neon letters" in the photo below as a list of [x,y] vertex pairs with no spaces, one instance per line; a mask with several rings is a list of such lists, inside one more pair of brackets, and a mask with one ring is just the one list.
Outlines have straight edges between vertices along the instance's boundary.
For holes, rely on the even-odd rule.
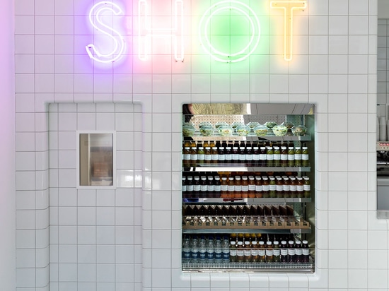
[[[375,212],[376,0],[308,1],[296,14],[290,63],[277,44],[280,15],[269,11],[269,0],[246,0],[260,11],[262,38],[238,64],[219,64],[199,46],[199,15],[213,1],[185,1],[184,62],[172,59],[166,43],[139,61],[132,37],[137,20],[131,17],[138,2],[115,1],[127,11],[128,51],[124,61],[105,67],[84,49],[94,40],[86,24],[92,1],[15,1],[18,290],[128,290],[122,283],[144,291],[387,290],[388,225]],[[171,19],[170,0],[148,1],[155,21]],[[314,274],[181,273],[184,102],[316,105]],[[134,124],[142,124],[142,133],[132,139],[139,130]],[[115,191],[74,189],[75,165],[59,152],[74,156],[75,129],[117,130],[119,151],[136,151],[134,160],[120,153]],[[126,180],[131,175],[134,182]],[[120,197],[122,191],[134,200]],[[100,199],[108,205],[100,206]],[[117,237],[121,223],[129,230]],[[82,227],[87,229],[80,233]],[[87,254],[83,248],[92,256],[81,256]]]

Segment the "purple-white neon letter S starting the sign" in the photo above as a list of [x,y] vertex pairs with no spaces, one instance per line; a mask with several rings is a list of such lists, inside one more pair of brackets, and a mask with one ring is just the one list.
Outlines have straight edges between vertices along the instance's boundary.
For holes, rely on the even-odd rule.
[[[122,14],[122,9],[117,6],[117,4],[107,1],[98,2],[91,8],[91,11],[89,11],[89,21],[91,22],[91,25],[93,25],[93,28],[112,39],[112,51],[108,54],[101,53],[94,44],[88,44],[85,47],[89,57],[95,61],[99,61],[100,63],[111,63],[113,61],[117,61],[124,52],[124,38],[122,35],[120,35],[117,30],[105,25],[101,20],[102,14],[106,11],[110,11],[115,15]],[[93,16],[95,16],[95,21],[93,20]]]

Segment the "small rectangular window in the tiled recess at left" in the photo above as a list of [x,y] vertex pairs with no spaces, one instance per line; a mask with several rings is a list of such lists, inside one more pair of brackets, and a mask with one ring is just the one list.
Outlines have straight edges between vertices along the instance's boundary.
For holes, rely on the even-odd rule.
[[80,133],[80,186],[113,185],[113,134]]

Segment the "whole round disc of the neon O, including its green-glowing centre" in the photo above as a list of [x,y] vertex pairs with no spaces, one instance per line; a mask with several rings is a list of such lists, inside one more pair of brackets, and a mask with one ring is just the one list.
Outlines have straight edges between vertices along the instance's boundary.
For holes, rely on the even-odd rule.
[[[218,16],[226,11],[230,16]],[[229,25],[219,24],[225,24],[226,20]],[[204,50],[216,61],[243,61],[257,48],[260,22],[249,6],[238,1],[220,1],[203,14],[199,23],[199,39]]]

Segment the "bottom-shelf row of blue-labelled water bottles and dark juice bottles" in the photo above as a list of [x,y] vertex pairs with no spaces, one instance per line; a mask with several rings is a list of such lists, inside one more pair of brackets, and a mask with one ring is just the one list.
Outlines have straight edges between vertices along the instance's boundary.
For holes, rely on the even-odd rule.
[[182,263],[309,263],[309,255],[308,241],[298,237],[193,234],[182,239]]

